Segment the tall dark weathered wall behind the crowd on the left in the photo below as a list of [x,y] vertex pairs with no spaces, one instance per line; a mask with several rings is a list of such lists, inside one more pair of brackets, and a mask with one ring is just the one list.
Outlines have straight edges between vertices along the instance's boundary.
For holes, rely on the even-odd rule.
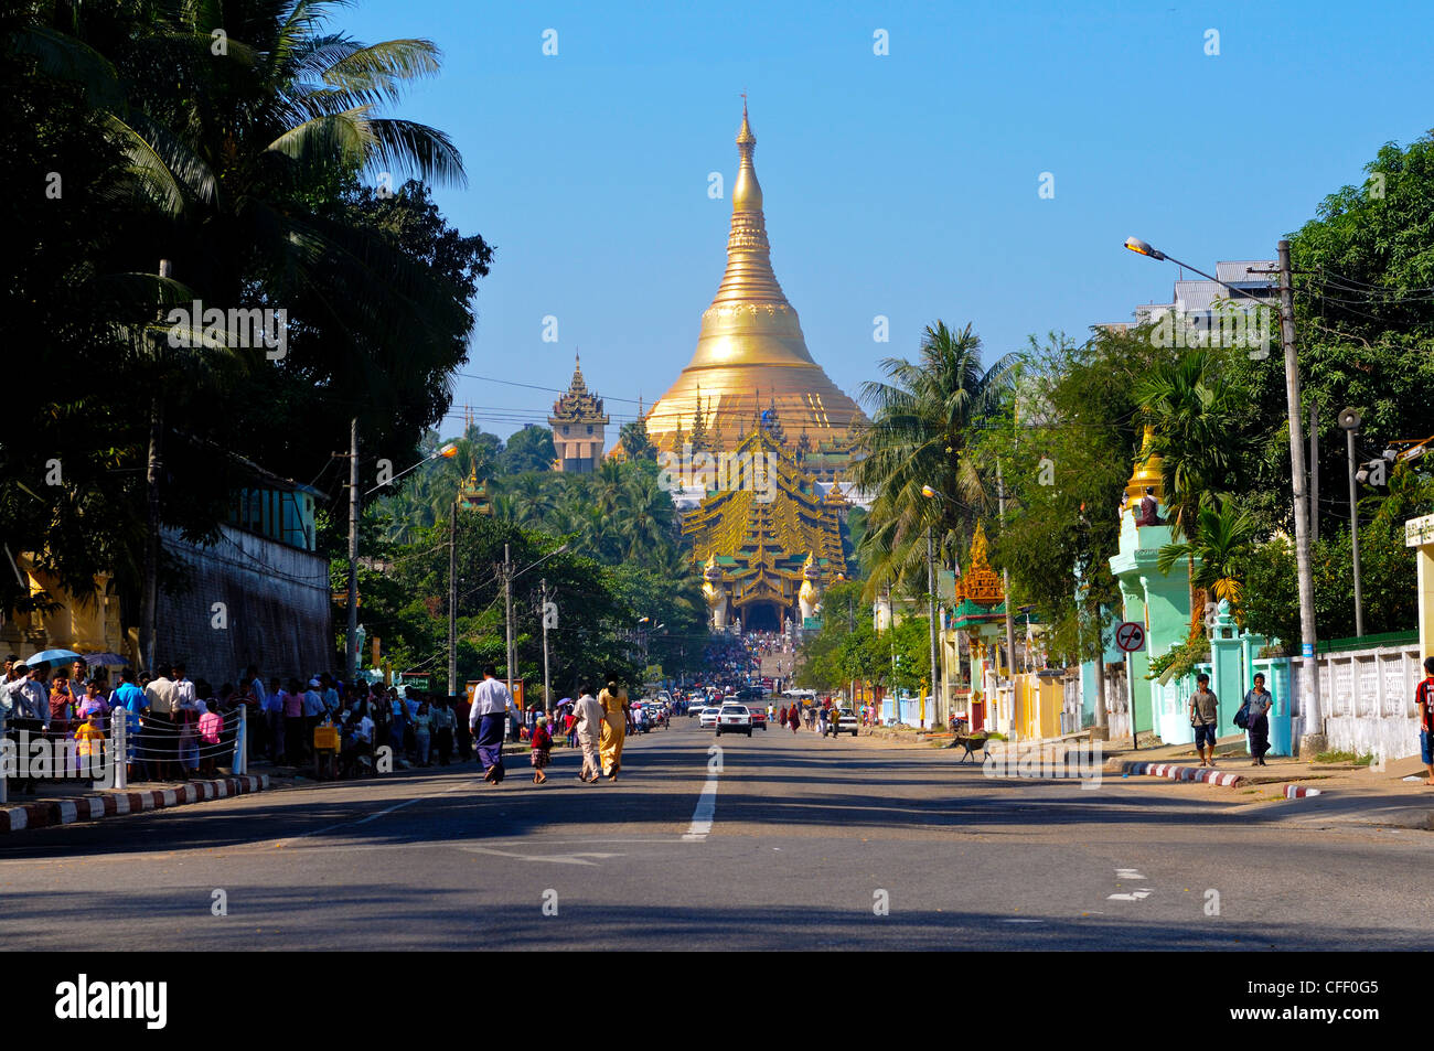
[[265,680],[337,671],[324,558],[227,525],[212,548],[172,531],[163,545],[189,565],[191,581],[181,595],[161,589],[156,660],[182,660],[189,678],[208,678],[215,688],[238,684],[251,662]]

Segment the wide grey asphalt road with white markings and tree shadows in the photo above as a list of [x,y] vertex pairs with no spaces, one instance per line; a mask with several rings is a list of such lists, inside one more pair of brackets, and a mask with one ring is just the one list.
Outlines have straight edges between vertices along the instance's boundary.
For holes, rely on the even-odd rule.
[[[555,750],[0,837],[17,949],[1424,949],[1434,833],[1210,786],[677,720]],[[215,915],[218,912],[227,915]]]

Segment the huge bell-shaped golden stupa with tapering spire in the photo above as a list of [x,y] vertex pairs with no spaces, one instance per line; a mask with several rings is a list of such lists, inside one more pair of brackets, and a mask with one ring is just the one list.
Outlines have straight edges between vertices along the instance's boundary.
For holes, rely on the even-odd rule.
[[731,188],[727,272],[703,313],[697,351],[647,414],[658,449],[681,452],[700,419],[714,452],[736,449],[764,426],[817,477],[850,462],[856,429],[866,417],[812,360],[797,313],[771,272],[761,186],[751,163],[757,136],[741,106],[740,163]]

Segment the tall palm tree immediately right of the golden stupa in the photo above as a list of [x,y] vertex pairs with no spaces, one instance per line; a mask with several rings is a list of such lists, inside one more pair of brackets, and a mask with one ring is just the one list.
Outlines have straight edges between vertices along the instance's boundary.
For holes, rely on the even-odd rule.
[[[862,386],[872,420],[862,434],[866,456],[853,469],[856,485],[876,493],[858,556],[870,572],[868,591],[922,581],[925,531],[968,532],[985,503],[981,472],[967,455],[971,429],[1011,389],[1017,356],[981,367],[981,338],[968,324],[954,331],[928,325],[921,357],[886,358],[886,381]],[[931,486],[944,499],[922,493]]]

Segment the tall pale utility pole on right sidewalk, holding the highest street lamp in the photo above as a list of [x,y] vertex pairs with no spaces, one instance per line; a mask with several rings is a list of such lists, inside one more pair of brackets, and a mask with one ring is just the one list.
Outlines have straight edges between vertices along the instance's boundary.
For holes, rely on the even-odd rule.
[[1305,697],[1299,754],[1324,750],[1319,711],[1319,658],[1315,631],[1315,576],[1309,556],[1309,490],[1305,485],[1305,436],[1301,434],[1299,356],[1295,351],[1295,285],[1289,267],[1289,241],[1279,242],[1279,336],[1285,346],[1285,400],[1289,413],[1289,470],[1295,490],[1295,562],[1299,569],[1299,641],[1305,665]]

